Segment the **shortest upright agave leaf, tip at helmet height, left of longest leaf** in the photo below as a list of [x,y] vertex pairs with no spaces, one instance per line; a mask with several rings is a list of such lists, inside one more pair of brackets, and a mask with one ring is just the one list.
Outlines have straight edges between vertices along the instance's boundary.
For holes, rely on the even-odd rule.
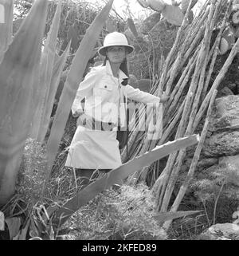
[[61,73],[65,66],[65,61],[69,55],[70,45],[71,42],[69,41],[69,44],[67,45],[64,53],[61,54],[61,57],[59,57],[57,53],[55,56],[53,75],[49,86],[49,95],[45,105],[44,120],[41,124],[41,138],[45,138],[45,134],[49,127],[49,121],[53,110],[55,95],[57,93],[57,88],[61,79]]

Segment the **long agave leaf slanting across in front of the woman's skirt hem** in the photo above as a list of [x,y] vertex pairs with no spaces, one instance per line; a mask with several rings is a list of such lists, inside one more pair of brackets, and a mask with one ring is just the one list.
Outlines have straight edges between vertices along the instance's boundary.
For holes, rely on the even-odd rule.
[[151,152],[146,152],[142,156],[135,157],[135,159],[123,163],[116,169],[109,171],[107,175],[97,179],[94,183],[88,185],[83,190],[79,191],[75,197],[65,203],[59,210],[55,212],[53,223],[61,226],[65,221],[77,211],[80,207],[84,206],[91,199],[93,199],[100,192],[115,183],[122,183],[122,180],[127,178],[128,175],[133,174],[135,171],[141,170],[145,166],[150,166],[151,163],[159,160],[170,153],[186,148],[190,145],[198,143],[198,136],[188,136],[178,140],[168,142],[157,146]]

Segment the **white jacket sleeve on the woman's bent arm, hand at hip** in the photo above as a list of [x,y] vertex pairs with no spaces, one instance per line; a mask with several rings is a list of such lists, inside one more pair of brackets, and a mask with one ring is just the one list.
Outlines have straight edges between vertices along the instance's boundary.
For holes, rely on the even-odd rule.
[[72,104],[73,116],[78,116],[77,112],[83,112],[81,100],[83,100],[85,96],[89,96],[92,93],[92,88],[96,84],[96,77],[97,72],[95,70],[92,70],[84,77],[84,81],[80,83],[79,88],[76,92],[75,100]]

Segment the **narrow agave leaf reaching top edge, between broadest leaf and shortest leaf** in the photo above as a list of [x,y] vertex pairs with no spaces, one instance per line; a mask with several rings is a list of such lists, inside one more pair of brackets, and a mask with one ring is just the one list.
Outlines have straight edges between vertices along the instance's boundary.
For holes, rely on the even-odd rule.
[[50,93],[50,83],[53,74],[54,57],[57,46],[57,33],[59,30],[61,18],[61,1],[58,2],[57,10],[53,18],[53,23],[50,27],[48,37],[45,41],[45,47],[41,57],[41,79],[39,89],[39,102],[37,105],[37,112],[33,120],[33,138],[43,142],[47,132],[48,125],[45,124],[45,112],[49,107],[48,99]]

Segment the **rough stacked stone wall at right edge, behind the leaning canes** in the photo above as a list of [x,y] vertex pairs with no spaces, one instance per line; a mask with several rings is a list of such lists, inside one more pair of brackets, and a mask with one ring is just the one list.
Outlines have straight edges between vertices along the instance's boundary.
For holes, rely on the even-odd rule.
[[[202,125],[203,122],[198,130],[202,131]],[[182,174],[188,171],[194,150],[195,147],[187,149]],[[215,181],[220,176],[225,179],[224,194],[239,199],[239,95],[221,96],[215,100],[194,181]],[[220,186],[218,183],[219,188]],[[189,193],[192,191],[189,190]]]

